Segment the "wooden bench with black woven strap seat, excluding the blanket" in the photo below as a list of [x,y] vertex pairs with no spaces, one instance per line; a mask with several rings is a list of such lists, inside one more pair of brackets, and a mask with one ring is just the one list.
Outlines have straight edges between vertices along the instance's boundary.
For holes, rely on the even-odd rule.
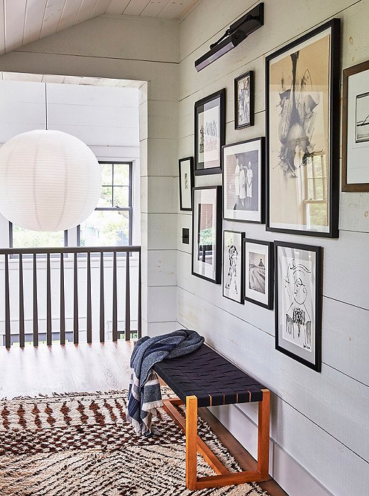
[[[190,490],[268,480],[270,391],[203,344],[197,351],[156,363],[154,370],[178,398],[164,409],[186,434],[186,486]],[[258,461],[255,470],[229,472],[197,436],[197,408],[258,402]],[[186,405],[186,419],[175,408]],[[197,477],[197,451],[217,475]]]

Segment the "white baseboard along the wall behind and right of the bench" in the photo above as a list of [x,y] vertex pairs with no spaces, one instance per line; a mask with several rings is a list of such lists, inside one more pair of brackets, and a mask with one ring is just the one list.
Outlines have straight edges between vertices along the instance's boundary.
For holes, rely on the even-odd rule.
[[[235,405],[209,407],[209,410],[257,458],[258,427],[255,422]],[[290,496],[334,496],[272,439],[269,473]]]

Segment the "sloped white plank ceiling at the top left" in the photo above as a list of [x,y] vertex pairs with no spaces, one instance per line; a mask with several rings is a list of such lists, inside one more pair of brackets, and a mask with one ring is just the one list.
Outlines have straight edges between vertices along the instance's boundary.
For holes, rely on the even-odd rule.
[[103,13],[183,19],[201,0],[0,0],[0,55]]

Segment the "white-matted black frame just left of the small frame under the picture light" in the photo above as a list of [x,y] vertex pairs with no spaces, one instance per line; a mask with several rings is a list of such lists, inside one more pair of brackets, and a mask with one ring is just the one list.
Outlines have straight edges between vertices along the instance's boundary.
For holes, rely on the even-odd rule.
[[226,139],[226,90],[194,104],[194,173],[221,173],[221,147]]

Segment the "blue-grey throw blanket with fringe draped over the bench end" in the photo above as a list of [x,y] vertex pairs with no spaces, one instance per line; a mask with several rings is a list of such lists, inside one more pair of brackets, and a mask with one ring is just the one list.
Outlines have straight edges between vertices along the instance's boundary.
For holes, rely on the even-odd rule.
[[131,383],[128,389],[127,419],[138,434],[151,434],[151,420],[163,405],[159,379],[153,366],[196,351],[204,338],[196,331],[180,329],[157,337],[141,337],[131,356]]

